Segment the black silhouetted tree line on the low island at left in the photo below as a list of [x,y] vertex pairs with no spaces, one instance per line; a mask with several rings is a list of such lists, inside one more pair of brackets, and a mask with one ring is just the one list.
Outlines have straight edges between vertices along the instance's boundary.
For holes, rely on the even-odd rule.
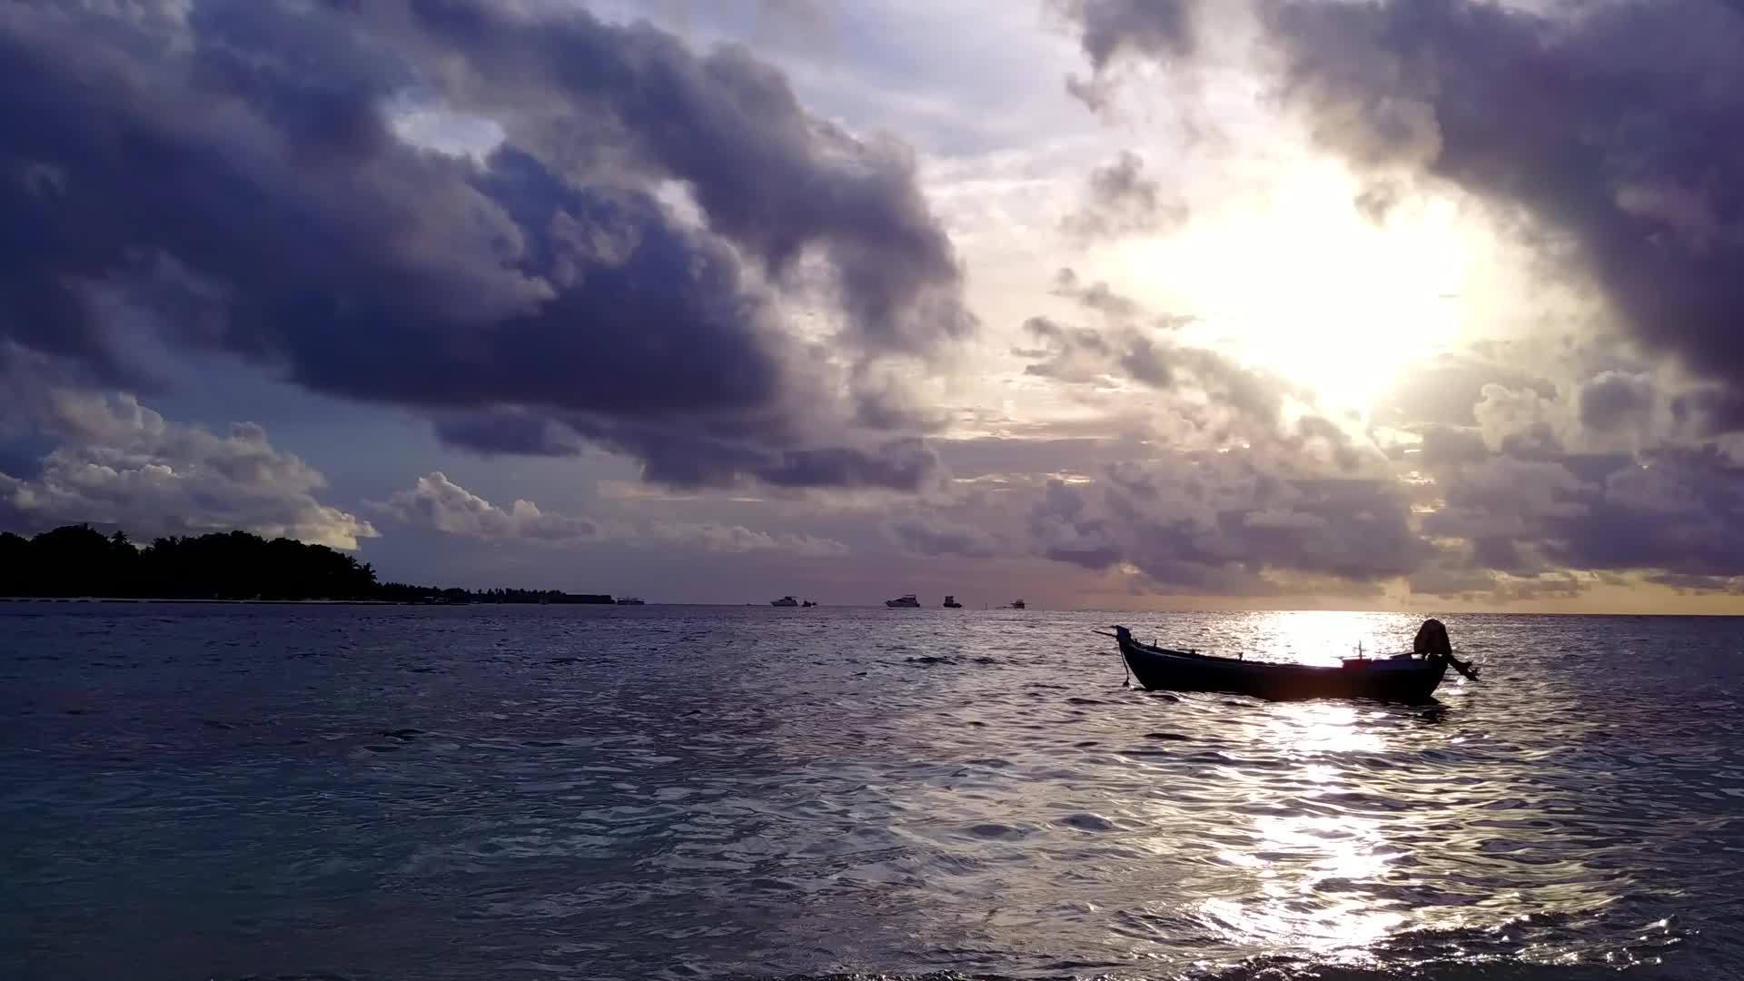
[[0,595],[378,602],[612,602],[560,590],[459,590],[380,583],[368,562],[324,545],[246,531],[166,536],[63,525],[35,538],[0,532]]

